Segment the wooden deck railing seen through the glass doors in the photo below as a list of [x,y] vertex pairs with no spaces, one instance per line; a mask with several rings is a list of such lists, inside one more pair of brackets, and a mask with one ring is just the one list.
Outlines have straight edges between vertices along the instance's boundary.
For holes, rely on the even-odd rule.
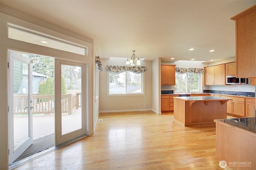
[[[72,114],[75,109],[81,107],[81,93],[62,94],[62,114]],[[33,114],[54,114],[54,95],[33,95],[32,96]],[[14,115],[27,112],[28,96],[14,96]]]

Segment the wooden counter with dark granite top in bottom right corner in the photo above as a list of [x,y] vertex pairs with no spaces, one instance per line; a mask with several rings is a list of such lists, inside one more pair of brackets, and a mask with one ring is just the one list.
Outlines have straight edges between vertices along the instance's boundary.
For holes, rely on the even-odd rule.
[[217,119],[216,157],[233,170],[256,169],[256,117]]

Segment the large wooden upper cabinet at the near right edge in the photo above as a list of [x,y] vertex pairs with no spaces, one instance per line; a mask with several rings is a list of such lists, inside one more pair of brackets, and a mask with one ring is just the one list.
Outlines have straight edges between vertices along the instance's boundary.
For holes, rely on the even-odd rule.
[[256,5],[231,20],[236,21],[236,77],[256,77]]

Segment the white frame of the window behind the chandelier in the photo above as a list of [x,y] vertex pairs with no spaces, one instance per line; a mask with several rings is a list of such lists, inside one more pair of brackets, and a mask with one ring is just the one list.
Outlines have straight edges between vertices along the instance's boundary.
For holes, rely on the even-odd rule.
[[[125,72],[128,72],[128,70],[126,70]],[[120,74],[120,73],[113,73],[112,74]],[[116,94],[110,94],[109,93],[109,87],[110,87],[110,82],[109,82],[109,76],[110,76],[110,72],[107,72],[107,88],[108,88],[108,94],[107,96],[145,96],[145,72],[139,73],[141,74],[141,88],[142,88],[142,92],[141,93],[116,93]],[[125,88],[126,89],[126,88]]]

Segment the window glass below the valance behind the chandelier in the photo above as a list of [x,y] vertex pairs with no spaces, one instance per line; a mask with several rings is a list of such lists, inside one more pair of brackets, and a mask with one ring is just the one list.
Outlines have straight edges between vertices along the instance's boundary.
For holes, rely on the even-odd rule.
[[131,71],[109,74],[108,94],[143,94],[143,73]]

